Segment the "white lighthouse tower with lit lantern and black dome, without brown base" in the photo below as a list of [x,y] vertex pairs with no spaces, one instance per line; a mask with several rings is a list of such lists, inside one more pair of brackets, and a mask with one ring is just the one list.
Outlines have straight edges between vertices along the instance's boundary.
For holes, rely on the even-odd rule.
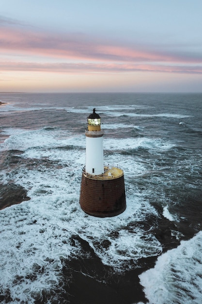
[[101,130],[100,116],[93,113],[88,117],[86,130],[86,173],[99,175],[104,173],[103,161],[103,130]]

